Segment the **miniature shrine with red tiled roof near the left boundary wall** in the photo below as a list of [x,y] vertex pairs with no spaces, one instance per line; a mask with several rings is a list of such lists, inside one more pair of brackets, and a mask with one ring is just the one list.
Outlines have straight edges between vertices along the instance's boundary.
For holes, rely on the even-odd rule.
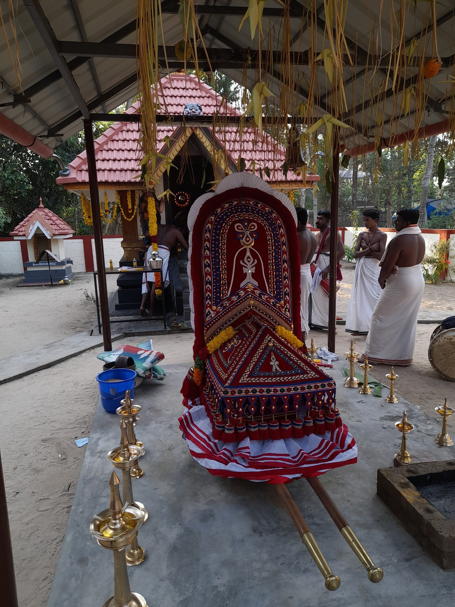
[[[73,260],[65,256],[65,239],[71,238],[73,234],[72,227],[45,208],[40,197],[38,208],[10,232],[15,240],[25,241],[27,247],[29,261],[24,262],[24,285],[50,284],[49,271],[54,284],[65,276],[70,280],[74,278]],[[46,250],[52,253],[49,263],[47,259],[39,260]]]

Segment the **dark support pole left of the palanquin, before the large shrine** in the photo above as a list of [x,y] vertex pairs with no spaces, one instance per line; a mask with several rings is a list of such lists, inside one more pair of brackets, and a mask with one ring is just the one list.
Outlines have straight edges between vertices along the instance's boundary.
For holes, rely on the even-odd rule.
[[104,350],[112,350],[110,339],[109,305],[107,303],[106,268],[104,267],[103,232],[101,230],[101,213],[99,212],[98,177],[96,176],[95,141],[91,120],[84,120],[86,136],[87,168],[89,169],[90,199],[92,200],[93,236],[95,239],[96,270],[98,271],[99,304],[101,307],[101,324],[103,325]]

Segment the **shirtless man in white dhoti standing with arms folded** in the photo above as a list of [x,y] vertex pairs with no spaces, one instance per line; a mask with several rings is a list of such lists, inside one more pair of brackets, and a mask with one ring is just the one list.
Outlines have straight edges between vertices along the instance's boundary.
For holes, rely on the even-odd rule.
[[371,316],[381,294],[379,262],[385,251],[387,235],[377,227],[379,216],[378,209],[363,211],[367,230],[360,232],[354,249],[357,263],[346,314],[346,331],[355,335],[368,333]]

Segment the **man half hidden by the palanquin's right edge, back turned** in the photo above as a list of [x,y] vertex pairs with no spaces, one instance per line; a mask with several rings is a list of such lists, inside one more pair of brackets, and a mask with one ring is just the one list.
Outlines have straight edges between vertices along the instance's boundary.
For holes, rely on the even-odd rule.
[[308,211],[306,209],[297,209],[297,237],[300,248],[300,321],[302,323],[302,339],[305,342],[308,339],[308,298],[311,289],[311,271],[309,262],[311,262],[316,250],[316,239],[311,230],[306,227],[308,222]]

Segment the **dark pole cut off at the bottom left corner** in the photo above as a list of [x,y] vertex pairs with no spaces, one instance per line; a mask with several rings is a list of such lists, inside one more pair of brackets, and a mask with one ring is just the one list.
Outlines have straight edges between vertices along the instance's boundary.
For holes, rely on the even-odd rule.
[[3,480],[2,458],[0,455],[0,596],[2,605],[19,607],[14,575],[13,549],[11,546],[10,523]]

